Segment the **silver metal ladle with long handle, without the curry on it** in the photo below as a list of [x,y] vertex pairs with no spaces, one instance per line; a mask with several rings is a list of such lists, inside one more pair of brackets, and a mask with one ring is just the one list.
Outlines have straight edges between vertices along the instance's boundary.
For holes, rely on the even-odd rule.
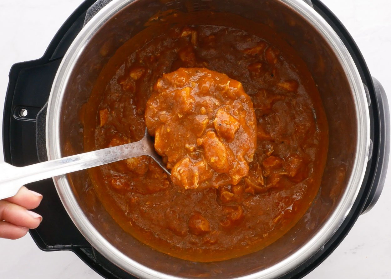
[[144,137],[140,141],[133,143],[23,167],[0,163],[0,200],[13,197],[18,193],[19,189],[27,183],[143,155],[154,159],[165,172],[171,175],[170,171],[165,167],[160,155],[156,153],[154,139],[149,136],[146,129]]

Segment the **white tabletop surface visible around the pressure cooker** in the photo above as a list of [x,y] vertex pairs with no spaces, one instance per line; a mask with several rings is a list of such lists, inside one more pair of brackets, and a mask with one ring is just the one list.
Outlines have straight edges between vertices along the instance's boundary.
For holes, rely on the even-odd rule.
[[[11,66],[41,57],[59,27],[81,2],[82,0],[0,0],[0,123]],[[391,99],[390,1],[323,2],[352,34],[371,74],[382,82]],[[3,161],[1,151],[2,145],[0,161]],[[388,175],[376,206],[359,217],[341,245],[306,279],[391,278],[390,179]],[[0,278],[101,277],[72,252],[39,250],[27,234],[20,240],[0,239]]]

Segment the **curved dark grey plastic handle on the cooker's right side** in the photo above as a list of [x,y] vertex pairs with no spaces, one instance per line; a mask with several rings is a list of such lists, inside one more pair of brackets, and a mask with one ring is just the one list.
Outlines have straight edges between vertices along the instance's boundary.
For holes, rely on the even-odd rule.
[[[380,82],[372,77],[375,88],[375,102],[377,104],[377,116],[379,125],[379,133],[375,135],[373,145],[378,145],[378,157],[372,157],[375,164],[375,171],[371,181],[371,188],[368,194],[368,199],[362,209],[362,213],[367,213],[375,206],[377,200],[382,193],[384,182],[386,180],[386,173],[388,167],[389,153],[390,153],[390,114],[389,105],[386,92]],[[376,138],[378,136],[378,138]]]

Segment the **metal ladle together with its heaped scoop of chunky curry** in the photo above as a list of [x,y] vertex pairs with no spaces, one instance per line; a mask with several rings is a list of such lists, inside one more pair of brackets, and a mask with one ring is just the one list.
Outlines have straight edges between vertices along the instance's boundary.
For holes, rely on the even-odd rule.
[[248,174],[255,113],[242,84],[227,75],[205,68],[163,75],[147,103],[145,123],[155,140],[146,131],[133,143],[24,167],[0,164],[0,199],[30,182],[143,155],[169,175],[172,170],[172,181],[185,189],[237,184]]

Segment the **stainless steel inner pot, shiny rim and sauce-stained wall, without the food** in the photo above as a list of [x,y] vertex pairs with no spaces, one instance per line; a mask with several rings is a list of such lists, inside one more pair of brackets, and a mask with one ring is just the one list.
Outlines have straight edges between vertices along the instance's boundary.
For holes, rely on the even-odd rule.
[[167,9],[226,12],[265,23],[307,63],[330,133],[326,169],[314,203],[298,224],[265,249],[236,259],[195,263],[157,252],[124,233],[91,190],[86,172],[54,178],[59,197],[91,245],[137,277],[250,279],[286,274],[322,249],[348,215],[363,181],[370,141],[368,101],[353,59],[328,23],[302,0],[111,1],[81,30],[59,67],[48,103],[48,158],[64,156],[66,142],[72,152],[83,152],[79,110],[100,70],[151,16]]

